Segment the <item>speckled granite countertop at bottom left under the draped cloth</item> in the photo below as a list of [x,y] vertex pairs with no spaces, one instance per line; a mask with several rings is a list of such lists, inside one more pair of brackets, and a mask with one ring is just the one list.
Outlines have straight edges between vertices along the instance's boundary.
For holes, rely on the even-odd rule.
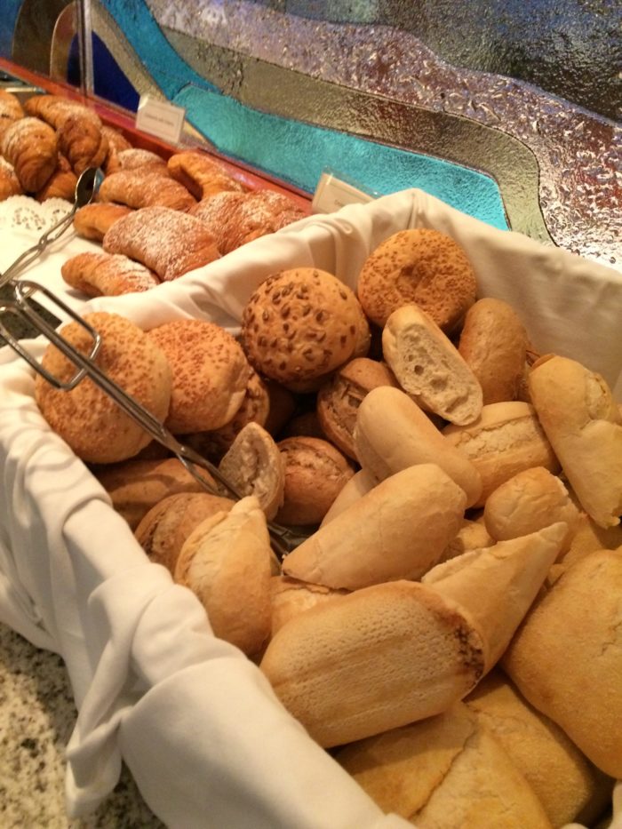
[[124,768],[91,816],[69,820],[63,752],[76,721],[59,656],[0,625],[0,826],[2,829],[161,829]]

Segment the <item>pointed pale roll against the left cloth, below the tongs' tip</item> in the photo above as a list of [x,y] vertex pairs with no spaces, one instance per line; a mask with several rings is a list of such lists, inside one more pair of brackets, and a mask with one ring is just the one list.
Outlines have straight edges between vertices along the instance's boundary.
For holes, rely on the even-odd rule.
[[271,549],[257,498],[201,522],[186,539],[175,581],[201,600],[211,629],[248,656],[270,635]]

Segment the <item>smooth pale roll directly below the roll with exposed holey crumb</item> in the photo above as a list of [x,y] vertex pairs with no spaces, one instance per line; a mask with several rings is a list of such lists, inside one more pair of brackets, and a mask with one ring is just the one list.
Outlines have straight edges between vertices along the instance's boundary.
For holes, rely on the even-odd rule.
[[355,451],[363,469],[378,481],[416,464],[437,464],[466,494],[466,506],[482,493],[482,478],[409,395],[399,388],[371,389],[355,424]]

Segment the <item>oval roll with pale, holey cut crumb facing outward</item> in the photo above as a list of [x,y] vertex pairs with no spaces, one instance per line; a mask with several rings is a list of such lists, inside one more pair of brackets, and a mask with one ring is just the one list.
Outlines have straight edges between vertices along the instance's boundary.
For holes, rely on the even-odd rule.
[[419,405],[459,425],[482,411],[482,387],[458,349],[416,305],[394,311],[382,331],[382,353],[397,382]]

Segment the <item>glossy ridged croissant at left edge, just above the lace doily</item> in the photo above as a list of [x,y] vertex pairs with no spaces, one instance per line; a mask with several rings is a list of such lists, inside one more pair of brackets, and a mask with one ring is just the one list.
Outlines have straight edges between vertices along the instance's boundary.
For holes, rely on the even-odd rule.
[[59,159],[56,132],[39,118],[14,121],[4,131],[0,150],[27,193],[44,187]]

